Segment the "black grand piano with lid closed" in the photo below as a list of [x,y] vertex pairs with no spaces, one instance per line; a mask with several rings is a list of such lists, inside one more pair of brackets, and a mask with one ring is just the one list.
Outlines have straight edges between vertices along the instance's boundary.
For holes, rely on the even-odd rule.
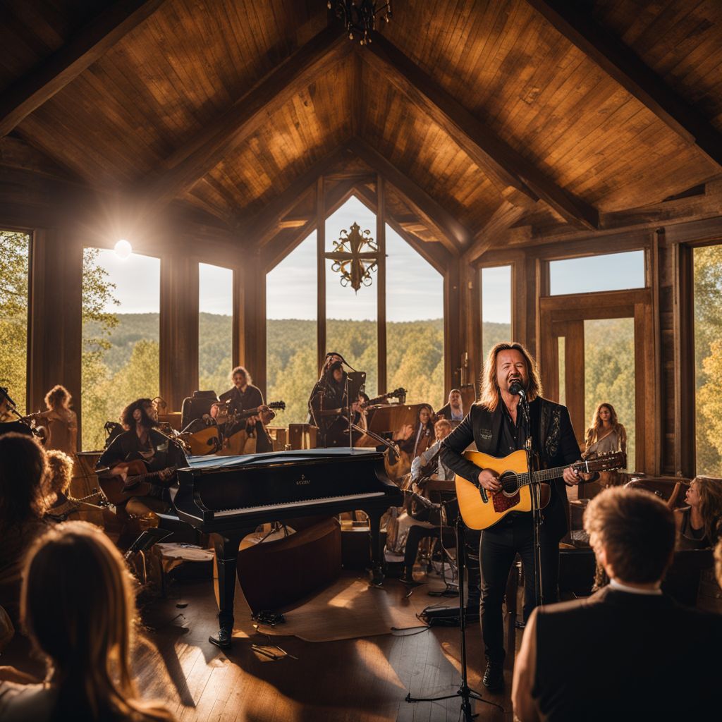
[[230,645],[235,570],[241,539],[260,524],[281,519],[362,510],[370,521],[373,581],[383,579],[380,519],[401,506],[383,453],[371,449],[304,449],[245,456],[191,458],[178,470],[173,505],[181,521],[218,534],[219,632],[211,641]]

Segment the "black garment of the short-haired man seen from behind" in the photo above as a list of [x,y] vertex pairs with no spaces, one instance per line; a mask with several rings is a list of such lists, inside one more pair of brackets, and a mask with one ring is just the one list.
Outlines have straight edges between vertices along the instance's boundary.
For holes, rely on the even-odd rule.
[[720,718],[719,614],[611,586],[534,614],[541,720]]

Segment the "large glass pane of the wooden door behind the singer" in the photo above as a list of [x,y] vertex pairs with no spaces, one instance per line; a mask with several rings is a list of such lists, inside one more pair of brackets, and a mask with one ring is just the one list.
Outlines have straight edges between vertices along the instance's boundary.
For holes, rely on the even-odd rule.
[[627,468],[635,465],[634,318],[584,321],[584,415],[591,424],[599,404],[614,406],[627,430]]

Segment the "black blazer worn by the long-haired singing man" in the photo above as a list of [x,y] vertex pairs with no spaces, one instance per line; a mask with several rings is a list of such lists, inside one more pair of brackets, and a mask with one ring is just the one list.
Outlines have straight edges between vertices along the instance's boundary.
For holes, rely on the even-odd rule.
[[[579,444],[574,436],[572,422],[566,406],[554,404],[554,401],[537,396],[529,404],[531,419],[531,439],[534,450],[544,469],[554,466],[568,466],[580,458]],[[503,410],[497,406],[489,411],[481,404],[473,404],[464,421],[449,434],[441,445],[441,461],[470,482],[477,482],[479,467],[466,461],[461,453],[476,443],[477,450],[497,456],[497,447]],[[543,516],[547,532],[561,539],[567,533],[567,487],[563,480],[556,479],[551,484],[552,496],[544,508]]]

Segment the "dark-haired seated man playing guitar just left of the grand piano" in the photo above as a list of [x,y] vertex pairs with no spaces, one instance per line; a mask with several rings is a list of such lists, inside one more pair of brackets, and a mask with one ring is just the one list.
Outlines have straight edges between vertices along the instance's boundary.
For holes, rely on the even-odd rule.
[[[113,443],[105,449],[95,468],[99,474],[103,469],[109,469],[106,473],[112,475],[115,469],[121,468],[127,462],[137,464],[138,460],[142,459],[142,471],[147,471],[150,483],[147,487],[139,486],[144,474],[138,477],[131,475],[125,479],[131,497],[121,505],[126,512],[138,516],[149,511],[168,510],[168,489],[175,484],[175,469],[188,466],[183,448],[177,441],[157,430],[158,413],[150,399],[136,399],[132,404],[128,404],[121,414],[121,423],[125,431],[116,436]],[[147,493],[132,495],[136,480],[137,487]]]

